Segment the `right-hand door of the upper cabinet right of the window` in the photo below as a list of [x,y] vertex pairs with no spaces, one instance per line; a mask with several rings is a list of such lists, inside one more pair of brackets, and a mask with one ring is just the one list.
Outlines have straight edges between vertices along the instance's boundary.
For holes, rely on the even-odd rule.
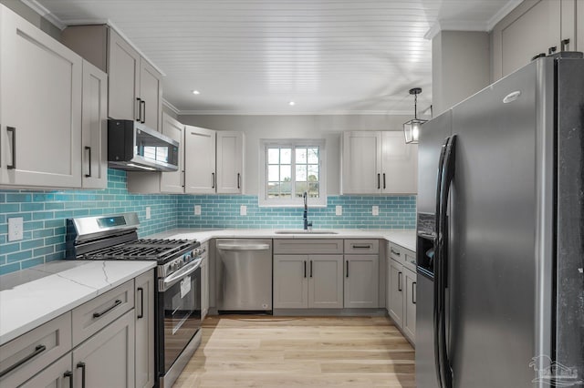
[[403,132],[382,132],[381,189],[387,194],[418,192],[418,145],[405,144]]

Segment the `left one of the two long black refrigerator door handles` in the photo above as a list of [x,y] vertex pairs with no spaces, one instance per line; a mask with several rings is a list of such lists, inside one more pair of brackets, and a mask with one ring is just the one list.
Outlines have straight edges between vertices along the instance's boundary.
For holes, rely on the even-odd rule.
[[440,299],[438,295],[439,291],[439,282],[437,278],[438,274],[438,262],[439,262],[439,255],[440,252],[438,250],[438,236],[440,235],[440,200],[442,199],[442,179],[443,179],[443,167],[444,167],[444,157],[446,155],[446,147],[450,138],[446,138],[444,140],[443,146],[440,150],[440,158],[438,160],[438,174],[436,176],[436,209],[434,212],[434,230],[433,230],[433,250],[434,250],[434,259],[433,259],[433,272],[434,272],[434,292],[433,292],[433,348],[434,348],[434,367],[436,370],[436,379],[440,387],[443,387],[443,377],[442,377],[442,362],[440,359],[441,352],[440,352],[440,343],[438,341],[438,332],[440,331]]

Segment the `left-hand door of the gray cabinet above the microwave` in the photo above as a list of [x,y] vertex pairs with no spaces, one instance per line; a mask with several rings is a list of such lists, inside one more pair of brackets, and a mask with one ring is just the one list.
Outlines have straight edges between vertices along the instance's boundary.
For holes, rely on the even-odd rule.
[[116,119],[140,118],[140,55],[110,28],[108,56],[108,116]]

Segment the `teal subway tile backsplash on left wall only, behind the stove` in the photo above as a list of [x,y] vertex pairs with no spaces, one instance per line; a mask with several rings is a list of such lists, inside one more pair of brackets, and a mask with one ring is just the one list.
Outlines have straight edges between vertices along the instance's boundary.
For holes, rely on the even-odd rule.
[[[179,196],[135,195],[126,190],[126,173],[108,170],[100,190],[0,190],[0,274],[65,258],[66,220],[136,211],[140,237],[176,228]],[[151,219],[146,220],[146,206]],[[24,240],[8,241],[8,219],[22,217]]]

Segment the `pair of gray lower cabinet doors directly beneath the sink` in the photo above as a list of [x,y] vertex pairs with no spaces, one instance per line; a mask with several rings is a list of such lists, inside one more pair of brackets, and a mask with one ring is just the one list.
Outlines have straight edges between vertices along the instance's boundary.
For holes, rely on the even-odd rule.
[[274,255],[275,309],[341,309],[342,255]]

